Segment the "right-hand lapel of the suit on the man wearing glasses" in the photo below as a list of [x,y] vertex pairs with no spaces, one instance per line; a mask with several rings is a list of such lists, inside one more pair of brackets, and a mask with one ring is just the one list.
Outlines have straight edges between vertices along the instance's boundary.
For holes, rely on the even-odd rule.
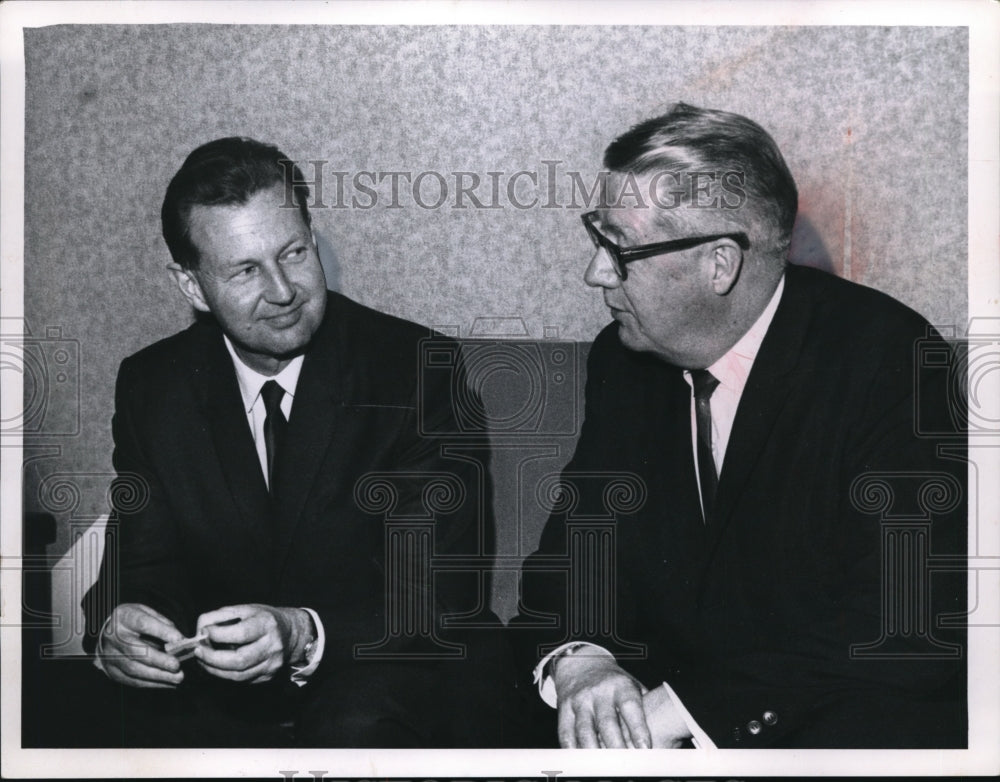
[[719,476],[713,536],[729,521],[788,397],[790,375],[799,360],[811,310],[799,282],[796,270],[789,267],[774,320],[743,389]]

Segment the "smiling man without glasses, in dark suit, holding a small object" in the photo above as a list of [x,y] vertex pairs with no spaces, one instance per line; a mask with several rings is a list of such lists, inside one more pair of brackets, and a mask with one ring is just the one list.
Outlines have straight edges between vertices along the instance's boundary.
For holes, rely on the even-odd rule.
[[502,655],[442,623],[489,620],[489,596],[429,569],[491,556],[486,471],[442,456],[457,424],[448,383],[420,376],[430,332],[326,290],[290,166],[219,139],[164,199],[201,317],[122,362],[114,464],[134,493],[85,600],[124,742],[499,741],[496,712],[468,710],[503,686]]

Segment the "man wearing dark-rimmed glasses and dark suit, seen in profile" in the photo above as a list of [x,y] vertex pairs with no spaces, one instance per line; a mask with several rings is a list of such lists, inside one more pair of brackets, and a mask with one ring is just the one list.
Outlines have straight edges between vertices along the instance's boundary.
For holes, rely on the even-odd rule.
[[[532,648],[550,730],[565,747],[965,746],[947,623],[967,464],[915,417],[961,414],[917,360],[947,346],[890,297],[787,265],[796,187],[756,123],[677,104],[604,162],[586,281],[614,323],[522,575],[525,618],[560,618]],[[580,520],[609,509],[613,547],[587,548]],[[602,564],[546,571],[574,556]]]

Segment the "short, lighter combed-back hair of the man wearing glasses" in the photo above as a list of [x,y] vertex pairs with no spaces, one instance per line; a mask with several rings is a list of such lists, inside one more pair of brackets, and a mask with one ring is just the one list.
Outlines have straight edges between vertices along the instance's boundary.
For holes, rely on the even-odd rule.
[[778,145],[753,120],[728,111],[675,103],[666,114],[646,120],[612,141],[604,153],[604,166],[636,175],[657,171],[715,174],[709,191],[712,197],[723,186],[723,177],[737,172],[746,198],[739,206],[730,207],[727,217],[743,224],[751,243],[759,249],[782,255],[788,250],[798,190]]

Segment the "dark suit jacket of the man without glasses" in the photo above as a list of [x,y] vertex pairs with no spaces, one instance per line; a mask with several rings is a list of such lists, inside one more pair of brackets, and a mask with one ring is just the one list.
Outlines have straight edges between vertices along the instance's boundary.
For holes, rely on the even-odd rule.
[[[493,552],[486,465],[444,458],[434,436],[455,431],[451,394],[462,379],[420,377],[430,334],[329,294],[278,457],[274,508],[218,326],[195,323],[125,359],[114,465],[123,486],[139,487],[117,492],[102,578],[85,600],[89,646],[119,602],[149,605],[189,635],[221,606],[304,606],[326,632],[321,678],[349,665],[359,644],[436,650],[415,614],[390,631],[390,597],[390,613],[432,604],[435,633],[443,614],[488,613],[488,580],[437,573],[431,583],[420,543],[387,564],[387,519],[432,523],[435,556]],[[457,345],[434,344],[454,353],[459,372]],[[372,473],[392,475],[359,483]]]

